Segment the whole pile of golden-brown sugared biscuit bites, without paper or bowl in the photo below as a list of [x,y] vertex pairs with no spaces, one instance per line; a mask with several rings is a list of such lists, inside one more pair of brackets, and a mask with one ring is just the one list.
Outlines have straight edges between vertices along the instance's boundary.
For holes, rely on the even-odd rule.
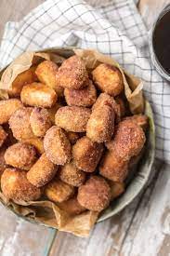
[[125,116],[118,68],[100,63],[89,72],[76,55],[60,66],[42,61],[19,74],[8,95],[0,101],[8,199],[47,198],[79,214],[106,209],[124,192],[129,163],[146,141],[147,116]]

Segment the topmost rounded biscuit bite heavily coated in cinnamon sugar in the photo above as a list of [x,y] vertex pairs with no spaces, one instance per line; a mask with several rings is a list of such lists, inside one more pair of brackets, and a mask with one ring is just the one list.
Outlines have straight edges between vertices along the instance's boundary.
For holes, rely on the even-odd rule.
[[73,55],[62,62],[57,74],[57,83],[62,88],[80,89],[86,87],[88,74],[85,63],[78,56]]

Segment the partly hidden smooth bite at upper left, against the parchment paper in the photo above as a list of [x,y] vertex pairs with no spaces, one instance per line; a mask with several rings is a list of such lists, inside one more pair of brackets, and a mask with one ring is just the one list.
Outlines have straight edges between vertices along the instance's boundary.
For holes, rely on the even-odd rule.
[[35,74],[35,68],[35,66],[32,66],[28,70],[17,75],[16,79],[12,83],[12,88],[8,90],[10,97],[19,97],[20,91],[25,85],[38,80]]

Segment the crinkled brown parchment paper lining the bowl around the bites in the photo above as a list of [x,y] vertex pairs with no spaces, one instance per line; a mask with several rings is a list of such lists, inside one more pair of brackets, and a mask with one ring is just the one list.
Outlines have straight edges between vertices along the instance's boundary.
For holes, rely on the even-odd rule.
[[[61,63],[65,58],[76,54],[86,64],[88,70],[94,69],[99,63],[113,64],[119,68],[124,77],[124,94],[129,102],[133,114],[142,113],[144,100],[142,96],[142,82],[135,76],[127,74],[119,64],[95,50],[51,48],[42,52],[25,52],[13,61],[5,70],[1,71],[0,98],[7,99],[7,91],[12,88],[12,83],[18,74],[29,69],[44,60]],[[0,193],[0,200],[15,213],[33,222],[43,223],[47,226],[58,228],[61,231],[70,232],[76,236],[88,236],[98,219],[98,212],[86,210],[85,212],[70,216],[67,212],[59,209],[59,206],[51,201],[42,199],[36,202],[13,202]]]

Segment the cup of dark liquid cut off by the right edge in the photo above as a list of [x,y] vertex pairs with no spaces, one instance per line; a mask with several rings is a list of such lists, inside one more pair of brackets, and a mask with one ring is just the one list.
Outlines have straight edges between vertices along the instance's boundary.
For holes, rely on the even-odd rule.
[[170,81],[170,5],[163,8],[150,30],[150,58],[156,70]]

